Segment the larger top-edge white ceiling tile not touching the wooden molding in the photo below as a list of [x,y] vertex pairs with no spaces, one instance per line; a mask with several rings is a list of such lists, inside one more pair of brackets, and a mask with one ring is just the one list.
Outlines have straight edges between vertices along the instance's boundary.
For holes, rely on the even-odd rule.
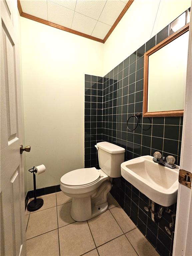
[[77,0],[75,11],[98,20],[105,3],[105,0]]

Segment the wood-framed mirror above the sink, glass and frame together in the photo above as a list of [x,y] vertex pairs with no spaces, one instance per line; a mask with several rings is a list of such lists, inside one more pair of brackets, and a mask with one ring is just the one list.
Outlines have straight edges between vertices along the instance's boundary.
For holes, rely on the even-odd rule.
[[189,24],[144,54],[143,116],[182,116]]

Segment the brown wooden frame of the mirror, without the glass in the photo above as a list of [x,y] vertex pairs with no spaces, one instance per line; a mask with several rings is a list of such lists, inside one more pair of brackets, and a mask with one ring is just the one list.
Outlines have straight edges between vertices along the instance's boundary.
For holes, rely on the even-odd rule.
[[158,117],[158,116],[183,116],[184,110],[170,110],[170,111],[159,111],[159,112],[147,112],[147,100],[148,100],[148,64],[149,56],[154,52],[161,49],[163,46],[169,44],[179,36],[183,35],[189,30],[189,23],[179,29],[177,32],[168,36],[162,42],[151,48],[144,54],[144,84],[143,84],[143,116],[144,117]]

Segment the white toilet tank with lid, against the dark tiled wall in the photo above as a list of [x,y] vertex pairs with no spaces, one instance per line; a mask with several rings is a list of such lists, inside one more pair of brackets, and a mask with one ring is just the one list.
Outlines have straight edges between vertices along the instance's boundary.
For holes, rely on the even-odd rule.
[[109,142],[99,142],[98,150],[99,167],[109,177],[121,177],[121,163],[124,162],[125,149]]

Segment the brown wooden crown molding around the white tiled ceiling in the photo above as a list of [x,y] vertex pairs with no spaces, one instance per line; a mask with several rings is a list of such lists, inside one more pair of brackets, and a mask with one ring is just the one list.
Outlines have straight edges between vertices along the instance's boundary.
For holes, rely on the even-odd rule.
[[134,0],[129,0],[129,2],[125,5],[125,7],[123,8],[122,12],[118,16],[118,18],[116,19],[115,23],[113,24],[113,26],[111,27],[111,29],[109,30],[109,32],[107,33],[107,35],[105,36],[104,39],[100,39],[100,38],[97,38],[97,37],[94,37],[94,36],[90,36],[90,35],[84,34],[82,32],[79,32],[77,30],[73,30],[73,29],[61,26],[59,24],[56,24],[56,23],[53,23],[53,22],[50,22],[50,21],[38,18],[38,17],[33,16],[31,14],[25,13],[22,10],[20,0],[17,0],[17,7],[18,7],[19,14],[20,14],[21,17],[24,17],[24,18],[27,18],[27,19],[30,19],[30,20],[34,20],[34,21],[37,21],[39,23],[42,23],[42,24],[45,24],[45,25],[48,25],[48,26],[51,26],[51,27],[54,27],[54,28],[57,28],[57,29],[60,29],[60,30],[63,30],[63,31],[66,31],[66,32],[69,32],[69,33],[72,33],[72,34],[75,34],[75,35],[78,35],[78,36],[82,36],[82,37],[85,37],[85,38],[88,38],[88,39],[91,39],[91,40],[94,40],[94,41],[97,41],[97,42],[100,42],[100,43],[104,44],[106,42],[107,38],[110,36],[110,34],[113,32],[113,30],[115,29],[115,27],[119,23],[119,21],[122,19],[123,15],[129,9],[129,7],[133,3],[133,1]]

